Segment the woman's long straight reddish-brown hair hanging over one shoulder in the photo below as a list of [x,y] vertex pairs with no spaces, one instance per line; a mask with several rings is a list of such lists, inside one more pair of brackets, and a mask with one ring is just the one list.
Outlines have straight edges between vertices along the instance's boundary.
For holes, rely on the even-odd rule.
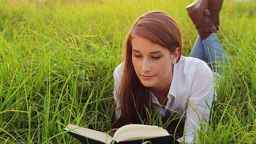
[[114,127],[126,124],[141,124],[147,122],[147,110],[152,110],[150,88],[144,86],[135,73],[132,64],[132,38],[144,37],[155,44],[167,48],[173,54],[177,47],[180,60],[183,47],[182,34],[177,22],[168,14],[160,10],[153,10],[142,14],[130,28],[123,46],[124,70],[117,92],[120,102],[121,115],[114,123]]

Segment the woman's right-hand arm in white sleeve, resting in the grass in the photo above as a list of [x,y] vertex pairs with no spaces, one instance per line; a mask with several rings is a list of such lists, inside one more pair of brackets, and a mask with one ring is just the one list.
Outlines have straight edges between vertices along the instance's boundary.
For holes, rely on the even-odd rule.
[[[214,93],[213,81],[208,65],[205,62],[197,64],[186,109],[185,139],[188,142],[197,140],[195,131],[200,130],[209,120]],[[204,129],[206,130],[205,127]]]

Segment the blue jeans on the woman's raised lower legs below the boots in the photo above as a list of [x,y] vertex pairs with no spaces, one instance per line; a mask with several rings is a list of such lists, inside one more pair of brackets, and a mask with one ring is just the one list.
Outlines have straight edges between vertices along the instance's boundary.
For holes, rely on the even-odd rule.
[[226,52],[216,34],[211,34],[203,40],[198,36],[189,56],[204,60],[212,71],[219,74],[223,71],[221,66],[228,64]]

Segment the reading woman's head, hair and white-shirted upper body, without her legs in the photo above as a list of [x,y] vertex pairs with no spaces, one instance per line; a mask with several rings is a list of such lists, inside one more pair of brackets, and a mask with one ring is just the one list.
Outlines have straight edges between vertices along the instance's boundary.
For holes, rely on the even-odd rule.
[[179,142],[196,142],[196,130],[210,116],[213,74],[206,62],[182,56],[182,46],[179,26],[165,12],[146,12],[135,20],[123,62],[114,70],[115,127],[146,124],[147,110],[160,110],[163,117],[178,112],[185,127]]

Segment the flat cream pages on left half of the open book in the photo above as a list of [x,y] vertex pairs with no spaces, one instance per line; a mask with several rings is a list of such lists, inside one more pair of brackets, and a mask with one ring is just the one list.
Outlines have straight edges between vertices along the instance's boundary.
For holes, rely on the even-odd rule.
[[[70,129],[73,130],[70,130]],[[99,132],[96,130],[91,130],[89,128],[83,128],[80,126],[76,126],[73,124],[69,124],[66,128],[64,128],[65,130],[70,130],[70,132],[74,132],[74,133],[78,133],[82,136],[88,137],[88,138],[92,138],[95,140],[99,140],[101,142],[106,142],[107,144],[110,144],[113,140],[112,136],[104,133],[104,132]]]

